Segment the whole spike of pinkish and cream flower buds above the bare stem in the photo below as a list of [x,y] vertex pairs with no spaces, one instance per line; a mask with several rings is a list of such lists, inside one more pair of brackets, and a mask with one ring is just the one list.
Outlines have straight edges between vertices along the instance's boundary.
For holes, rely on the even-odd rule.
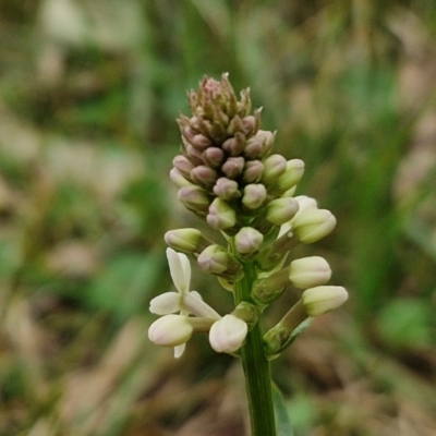
[[[343,288],[325,286],[331,270],[324,258],[306,257],[287,265],[292,247],[326,237],[336,219],[319,209],[315,199],[294,196],[304,162],[271,153],[276,134],[259,129],[262,109],[251,113],[249,89],[238,98],[227,74],[220,82],[204,77],[199,89],[190,92],[189,102],[192,116],[178,120],[183,146],[172,161],[170,178],[180,202],[220,232],[228,246],[208,240],[197,229],[166,233],[166,242],[173,249],[168,258],[179,292],[152,301],[150,311],[164,316],[152,325],[149,338],[175,347],[175,355],[180,355],[193,331],[206,331],[216,351],[233,353],[263,308],[286,288],[302,289],[291,314],[265,335],[267,354],[276,355],[306,318],[347,300]],[[237,308],[221,317],[197,292],[187,290],[190,269],[183,253],[217,276],[228,290],[244,277],[244,266],[250,263],[256,271],[250,298],[235,299]],[[175,267],[179,262],[183,268]]]

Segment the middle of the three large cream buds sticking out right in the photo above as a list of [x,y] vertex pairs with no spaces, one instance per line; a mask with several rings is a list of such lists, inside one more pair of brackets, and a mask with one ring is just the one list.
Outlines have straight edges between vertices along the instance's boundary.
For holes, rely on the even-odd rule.
[[292,261],[289,279],[295,288],[307,289],[327,283],[331,269],[327,261],[319,256],[303,257]]

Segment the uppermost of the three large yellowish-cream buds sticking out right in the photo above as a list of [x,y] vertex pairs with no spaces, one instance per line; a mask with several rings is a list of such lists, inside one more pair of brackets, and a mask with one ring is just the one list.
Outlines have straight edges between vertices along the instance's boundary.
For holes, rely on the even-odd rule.
[[307,209],[298,215],[292,230],[303,244],[312,244],[327,237],[336,226],[335,216],[326,209]]

